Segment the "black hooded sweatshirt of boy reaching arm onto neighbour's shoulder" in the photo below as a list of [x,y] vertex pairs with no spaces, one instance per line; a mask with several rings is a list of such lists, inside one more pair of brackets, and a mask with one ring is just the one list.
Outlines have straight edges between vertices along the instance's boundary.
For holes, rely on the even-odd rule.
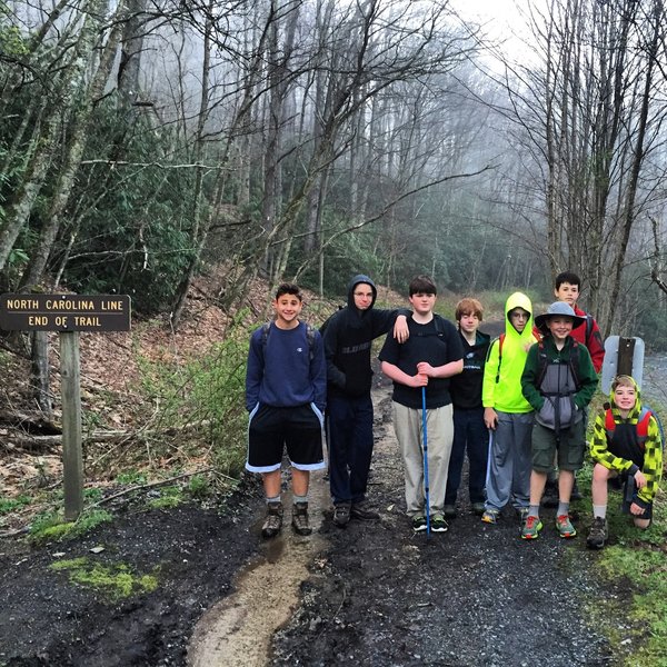
[[[361,282],[370,285],[372,290],[367,310],[355,306],[354,291]],[[375,282],[368,276],[355,276],[348,287],[347,308],[335,312],[323,327],[329,396],[359,397],[368,394],[372,381],[372,341],[391,329],[398,315],[410,315],[410,310],[406,309],[376,310],[377,296]]]

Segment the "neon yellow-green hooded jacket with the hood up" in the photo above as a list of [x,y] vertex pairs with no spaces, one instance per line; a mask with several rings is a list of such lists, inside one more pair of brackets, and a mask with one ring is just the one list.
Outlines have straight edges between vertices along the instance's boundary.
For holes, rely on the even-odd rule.
[[[526,327],[519,334],[509,321],[509,311],[522,308],[530,313]],[[531,412],[532,407],[521,394],[521,374],[526,357],[537,338],[532,334],[532,305],[530,299],[515,292],[505,303],[505,340],[500,352],[500,339],[491,342],[484,367],[481,402],[485,408],[501,412]]]

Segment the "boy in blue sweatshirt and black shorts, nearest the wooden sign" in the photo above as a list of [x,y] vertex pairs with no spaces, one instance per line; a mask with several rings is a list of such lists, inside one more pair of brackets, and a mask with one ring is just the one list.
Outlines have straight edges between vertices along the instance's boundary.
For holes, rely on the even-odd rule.
[[302,297],[296,285],[276,291],[276,319],[250,338],[246,374],[248,460],[246,469],[260,472],[267,498],[262,537],[275,537],[282,526],[280,467],[283,449],[291,462],[292,528],[310,535],[308,485],[310,470],[325,467],[322,424],[327,367],[318,331],[299,321]]

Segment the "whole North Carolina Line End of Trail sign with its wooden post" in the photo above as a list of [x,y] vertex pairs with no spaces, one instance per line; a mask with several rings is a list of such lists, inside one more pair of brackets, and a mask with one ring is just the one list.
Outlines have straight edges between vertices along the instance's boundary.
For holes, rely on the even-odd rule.
[[130,297],[1,295],[0,328],[9,331],[59,331],[64,519],[76,521],[83,510],[79,332],[129,331]]

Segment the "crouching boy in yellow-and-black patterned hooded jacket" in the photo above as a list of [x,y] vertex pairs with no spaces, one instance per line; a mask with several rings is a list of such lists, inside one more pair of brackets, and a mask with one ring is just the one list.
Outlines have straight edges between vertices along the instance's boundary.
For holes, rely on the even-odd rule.
[[607,480],[624,481],[623,511],[646,529],[663,471],[663,445],[656,418],[641,407],[639,388],[630,376],[611,382],[610,406],[596,420],[590,442],[593,458],[593,527],[587,545],[601,549],[608,538]]

